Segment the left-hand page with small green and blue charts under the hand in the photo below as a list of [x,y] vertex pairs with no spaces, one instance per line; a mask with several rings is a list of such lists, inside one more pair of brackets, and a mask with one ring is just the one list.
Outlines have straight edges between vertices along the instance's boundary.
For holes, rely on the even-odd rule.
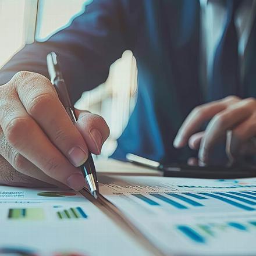
[[0,223],[0,255],[150,255],[73,191],[0,186]]

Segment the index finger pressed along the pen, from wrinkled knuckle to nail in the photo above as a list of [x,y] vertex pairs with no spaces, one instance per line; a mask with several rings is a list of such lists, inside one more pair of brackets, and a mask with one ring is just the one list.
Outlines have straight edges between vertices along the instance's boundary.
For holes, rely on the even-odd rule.
[[50,81],[40,74],[26,72],[16,87],[24,108],[56,148],[74,166],[82,165],[88,157],[86,142],[67,115]]

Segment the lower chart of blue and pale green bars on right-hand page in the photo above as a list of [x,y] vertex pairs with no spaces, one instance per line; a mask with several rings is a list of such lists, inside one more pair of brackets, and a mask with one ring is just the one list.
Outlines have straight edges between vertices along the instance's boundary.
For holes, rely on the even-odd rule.
[[209,239],[219,237],[220,234],[224,232],[256,232],[256,219],[244,223],[223,222],[177,225],[176,229],[193,243],[204,244],[207,243]]

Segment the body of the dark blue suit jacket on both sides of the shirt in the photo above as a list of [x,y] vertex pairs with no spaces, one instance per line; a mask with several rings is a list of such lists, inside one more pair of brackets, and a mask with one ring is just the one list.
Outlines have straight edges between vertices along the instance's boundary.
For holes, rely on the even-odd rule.
[[[130,5],[132,50],[138,66],[138,99],[113,157],[127,152],[167,162],[195,154],[172,143],[189,112],[205,102],[201,80],[201,8],[198,0],[144,0]],[[244,54],[245,97],[256,97],[253,23]]]

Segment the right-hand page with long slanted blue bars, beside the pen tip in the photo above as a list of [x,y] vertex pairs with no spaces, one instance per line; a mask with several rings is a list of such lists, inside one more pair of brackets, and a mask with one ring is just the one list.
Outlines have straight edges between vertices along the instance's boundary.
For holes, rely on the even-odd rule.
[[99,181],[104,197],[166,255],[256,255],[256,179]]

